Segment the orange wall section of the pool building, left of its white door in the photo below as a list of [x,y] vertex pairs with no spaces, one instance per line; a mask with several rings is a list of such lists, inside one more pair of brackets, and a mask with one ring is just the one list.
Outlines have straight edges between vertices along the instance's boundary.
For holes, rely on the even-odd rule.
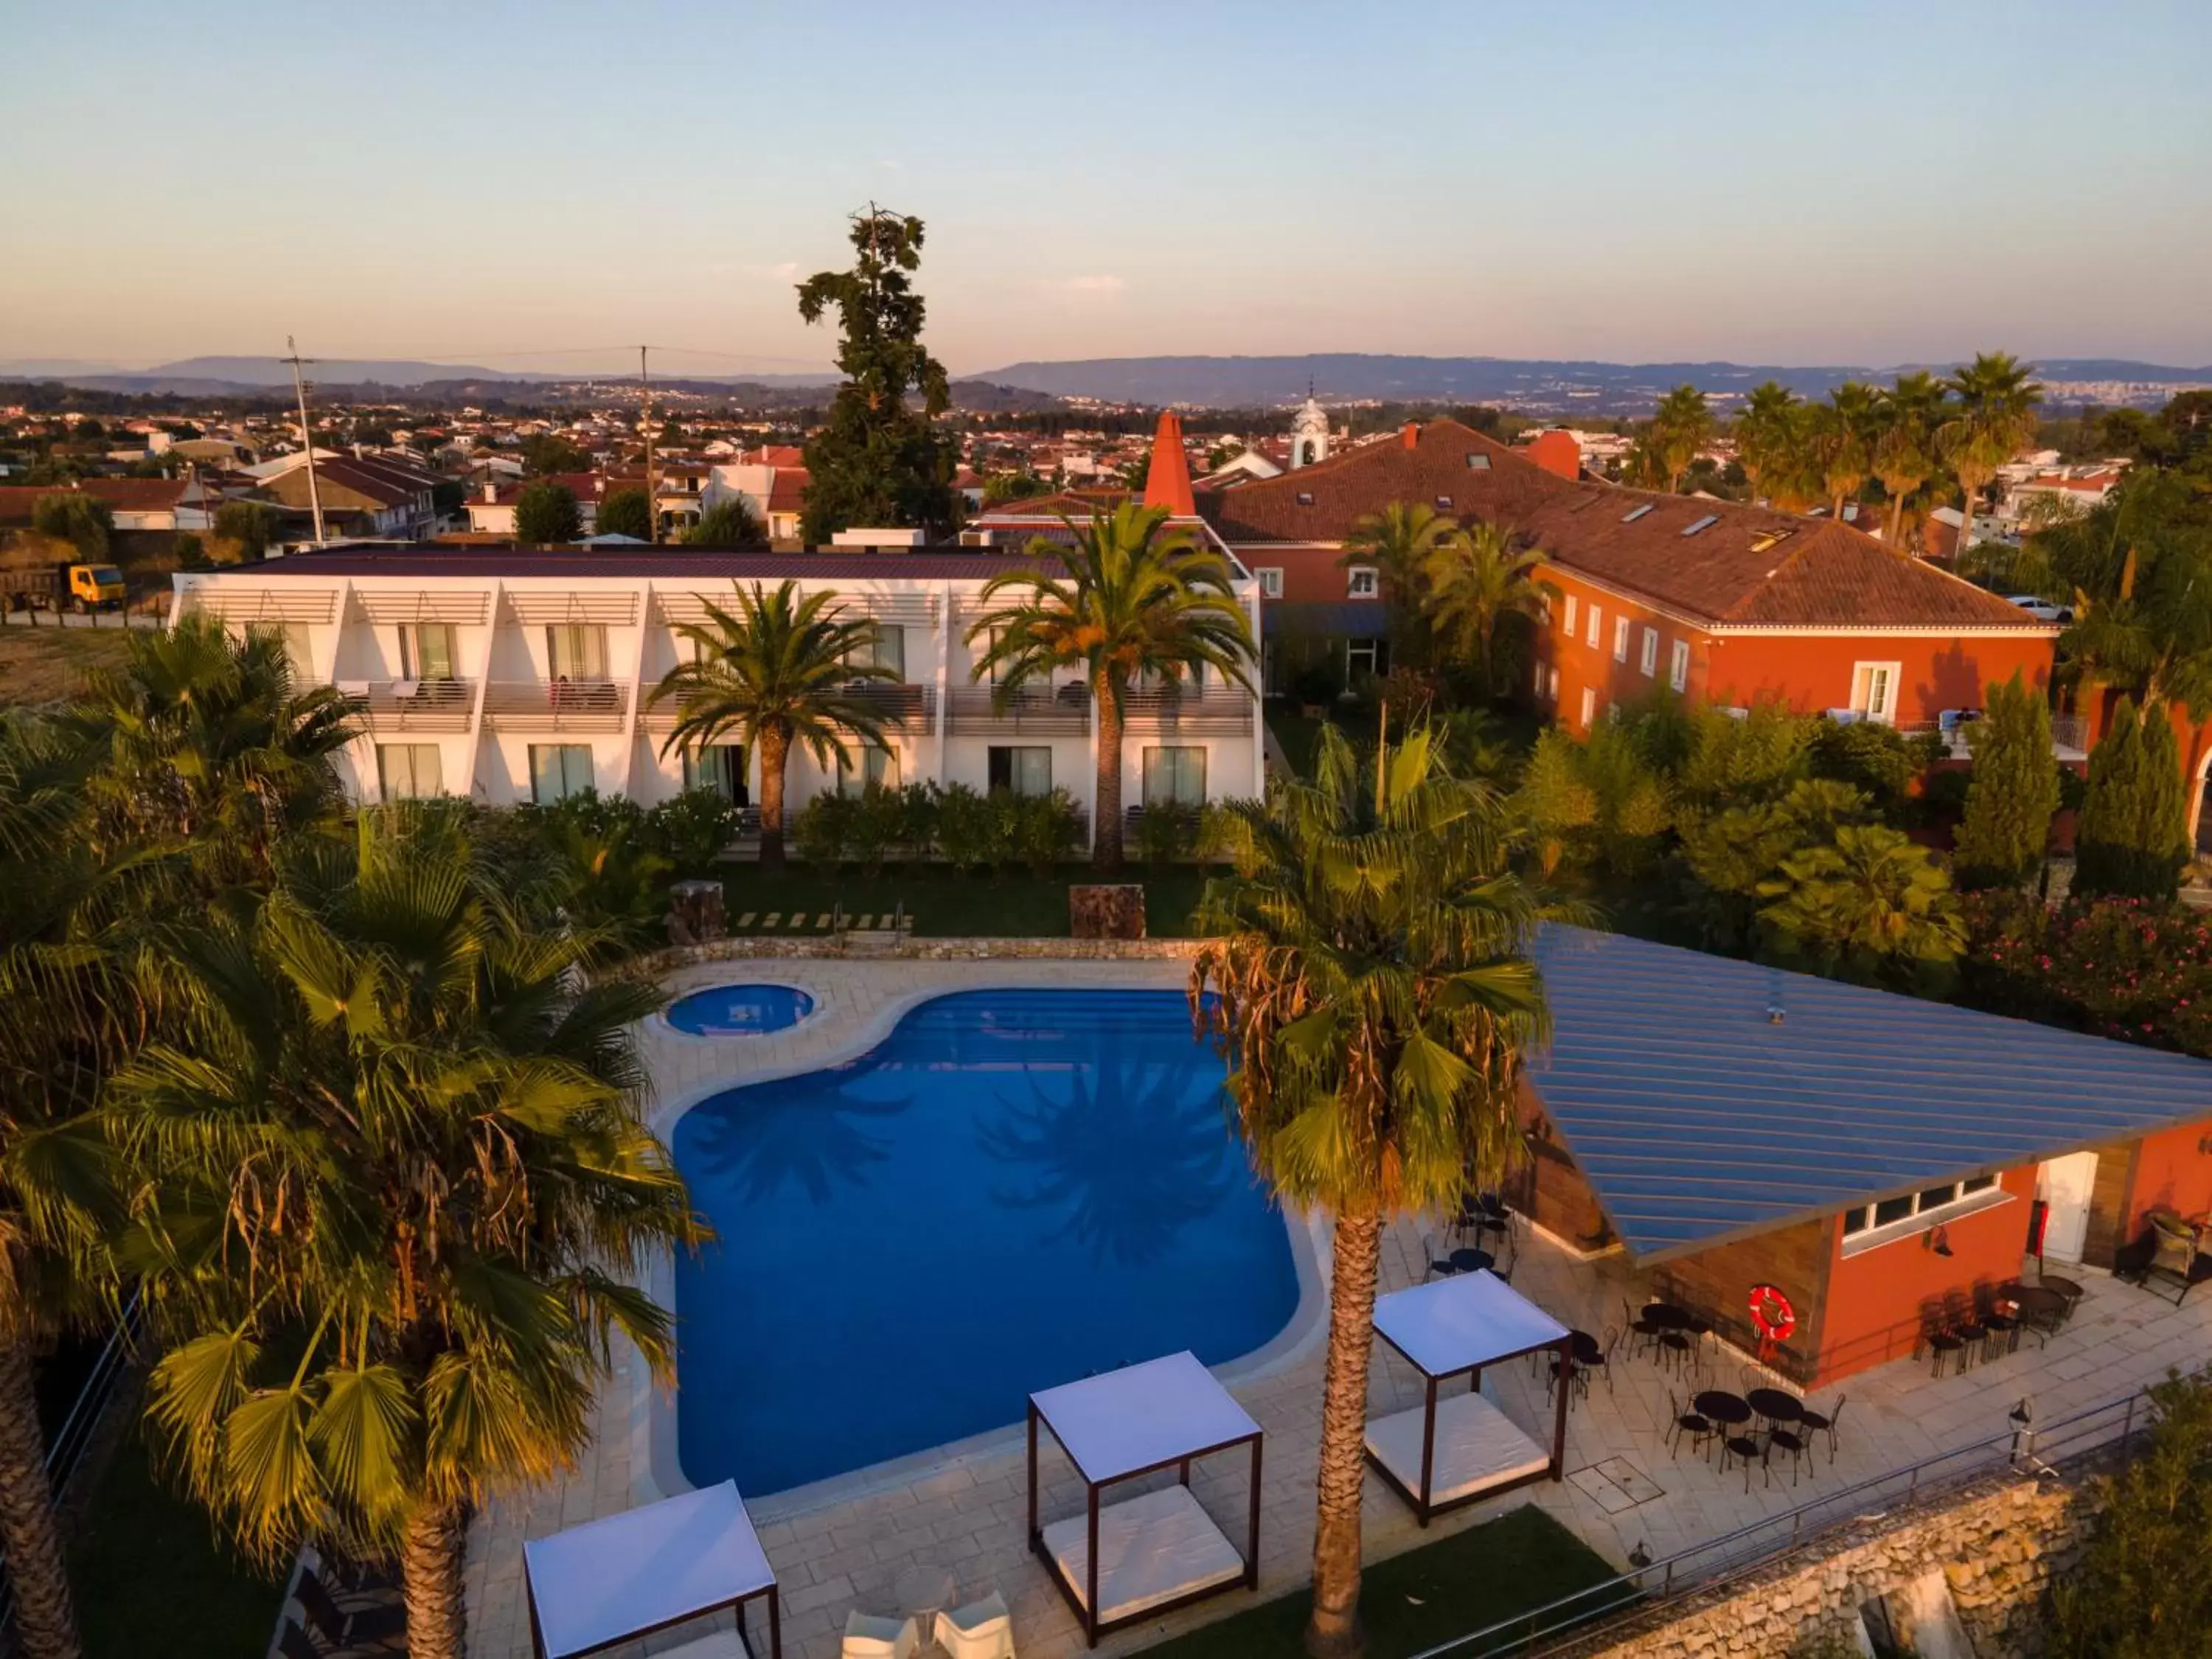
[[[2212,1159],[2208,1159],[2212,1164]],[[1944,1223],[1949,1256],[1929,1250],[1924,1232],[1843,1254],[1843,1221],[1832,1221],[1834,1261],[1820,1321],[1820,1383],[1913,1352],[1929,1305],[1947,1298],[1971,1303],[1978,1285],[2020,1276],[2028,1243],[2028,1203],[2035,1166],[2006,1170],[2000,1186],[2015,1203],[1997,1203]]]

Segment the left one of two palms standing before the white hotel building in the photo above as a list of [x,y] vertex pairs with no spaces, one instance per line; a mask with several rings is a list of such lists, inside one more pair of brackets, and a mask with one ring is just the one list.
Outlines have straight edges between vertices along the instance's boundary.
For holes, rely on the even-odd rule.
[[677,664],[648,697],[675,701],[677,723],[661,754],[717,743],[732,732],[761,757],[761,863],[783,863],[783,776],[792,743],[801,743],[823,770],[849,761],[845,734],[883,743],[883,708],[867,699],[863,684],[898,679],[896,668],[863,661],[876,644],[876,624],[843,617],[827,588],[799,597],[799,582],[785,577],[774,593],[754,582],[737,588],[737,611],[717,604],[706,622],[686,622],[677,633],[692,641],[695,657]]

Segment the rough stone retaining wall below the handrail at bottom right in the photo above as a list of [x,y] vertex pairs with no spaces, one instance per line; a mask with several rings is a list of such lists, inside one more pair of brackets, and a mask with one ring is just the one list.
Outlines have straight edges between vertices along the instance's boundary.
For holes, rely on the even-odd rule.
[[1863,1604],[1891,1597],[1896,1608],[1916,1579],[1940,1571],[1982,1659],[2033,1659],[2042,1652],[2037,1608],[2044,1588],[2075,1562],[2088,1506],[2084,1489],[2017,1475],[1982,1480],[1829,1533],[1750,1579],[1652,1615],[1655,1624],[1635,1635],[1615,1628],[1551,1652],[1559,1659],[1785,1659],[1801,1641],[1849,1639]]

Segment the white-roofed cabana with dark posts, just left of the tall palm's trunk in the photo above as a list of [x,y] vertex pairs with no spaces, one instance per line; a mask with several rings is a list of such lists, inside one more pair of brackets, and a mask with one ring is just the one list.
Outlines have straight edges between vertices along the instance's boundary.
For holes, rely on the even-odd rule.
[[[1037,1524],[1037,1422],[1084,1478],[1082,1515]],[[1099,1635],[1150,1613],[1259,1586],[1259,1442],[1252,1422],[1197,1354],[1168,1354],[1029,1396],[1029,1546],[1060,1593]],[[1252,1447],[1252,1517],[1243,1555],[1190,1493],[1190,1464]],[[1099,1504],[1099,1489],[1175,1469],[1179,1482]]]

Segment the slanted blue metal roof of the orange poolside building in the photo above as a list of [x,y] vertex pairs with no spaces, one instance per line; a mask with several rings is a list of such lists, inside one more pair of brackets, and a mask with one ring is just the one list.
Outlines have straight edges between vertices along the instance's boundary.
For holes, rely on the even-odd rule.
[[2212,1119],[2188,1055],[1577,927],[1535,953],[1531,1082],[1637,1256]]

